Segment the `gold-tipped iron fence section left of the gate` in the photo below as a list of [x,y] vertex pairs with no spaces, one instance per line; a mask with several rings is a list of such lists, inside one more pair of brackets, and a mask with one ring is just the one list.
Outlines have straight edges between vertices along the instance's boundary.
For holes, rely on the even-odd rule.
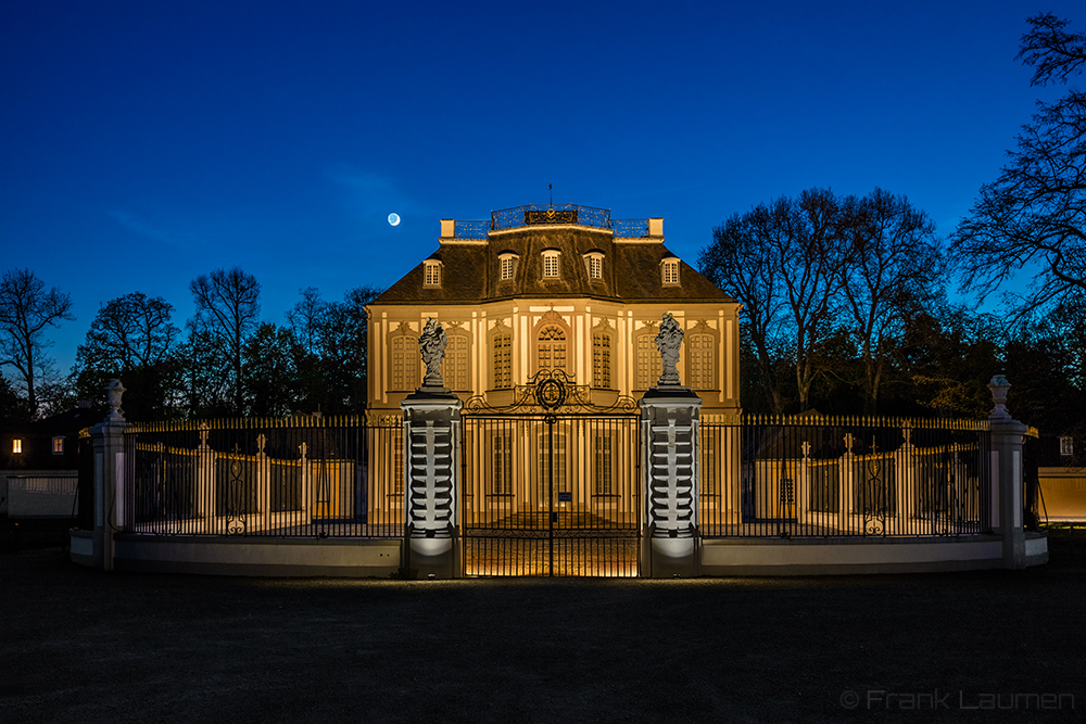
[[135,423],[123,471],[128,533],[403,535],[399,415]]

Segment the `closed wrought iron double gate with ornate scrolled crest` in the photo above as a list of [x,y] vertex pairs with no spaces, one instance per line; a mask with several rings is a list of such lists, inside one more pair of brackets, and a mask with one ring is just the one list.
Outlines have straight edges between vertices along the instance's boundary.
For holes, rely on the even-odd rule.
[[639,410],[542,370],[506,407],[463,412],[466,575],[637,575]]

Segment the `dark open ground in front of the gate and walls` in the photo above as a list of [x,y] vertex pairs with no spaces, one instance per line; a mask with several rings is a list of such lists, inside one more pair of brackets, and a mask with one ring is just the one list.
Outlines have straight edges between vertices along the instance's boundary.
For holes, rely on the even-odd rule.
[[103,574],[54,548],[0,575],[0,724],[1086,713],[1082,554],[1016,573],[356,582]]

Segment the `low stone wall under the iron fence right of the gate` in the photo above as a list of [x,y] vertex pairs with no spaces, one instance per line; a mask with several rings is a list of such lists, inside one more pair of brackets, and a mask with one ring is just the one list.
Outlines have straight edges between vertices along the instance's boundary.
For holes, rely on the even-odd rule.
[[[1026,566],[1048,562],[1048,537],[1026,534]],[[699,573],[838,575],[1003,568],[998,535],[948,538],[716,538],[698,546]]]

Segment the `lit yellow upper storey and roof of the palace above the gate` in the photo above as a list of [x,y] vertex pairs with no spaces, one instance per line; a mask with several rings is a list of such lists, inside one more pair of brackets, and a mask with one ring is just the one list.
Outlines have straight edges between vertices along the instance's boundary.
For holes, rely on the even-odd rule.
[[520,206],[442,219],[438,243],[368,307],[370,409],[399,410],[421,384],[428,317],[447,334],[442,374],[462,401],[509,404],[544,368],[597,405],[640,398],[660,374],[654,339],[670,313],[684,331],[682,383],[703,412],[738,411],[740,305],[667,249],[662,218]]

